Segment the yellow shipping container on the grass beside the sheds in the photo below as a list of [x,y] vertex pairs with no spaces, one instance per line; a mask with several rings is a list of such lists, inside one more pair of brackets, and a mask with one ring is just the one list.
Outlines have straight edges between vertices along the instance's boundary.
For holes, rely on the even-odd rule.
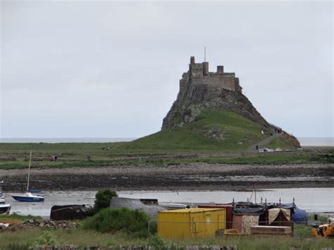
[[225,227],[225,208],[187,208],[158,213],[158,235],[161,237],[209,237]]

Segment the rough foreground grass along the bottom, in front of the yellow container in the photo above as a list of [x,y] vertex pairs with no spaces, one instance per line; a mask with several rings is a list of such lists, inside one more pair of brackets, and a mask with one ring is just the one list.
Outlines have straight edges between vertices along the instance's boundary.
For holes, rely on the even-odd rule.
[[[16,232],[1,232],[0,246],[1,249],[27,249],[40,242],[41,236],[46,235],[45,230],[32,229],[20,230]],[[54,241],[54,244],[77,246],[130,246],[130,245],[236,245],[237,249],[321,249],[333,246],[333,240],[310,237],[290,238],[290,237],[228,237],[225,239],[209,238],[209,239],[183,239],[168,240],[151,237],[147,239],[129,237],[124,233],[99,233],[84,230],[49,230],[48,234]],[[159,239],[159,240],[156,240]],[[16,242],[16,243],[15,243]],[[161,245],[161,242],[163,245]],[[15,248],[14,248],[15,246]]]

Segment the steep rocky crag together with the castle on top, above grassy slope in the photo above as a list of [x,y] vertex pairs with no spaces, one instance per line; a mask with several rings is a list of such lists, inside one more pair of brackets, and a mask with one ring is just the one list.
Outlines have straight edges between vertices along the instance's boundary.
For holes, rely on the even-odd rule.
[[[192,123],[197,115],[208,109],[233,111],[254,123],[263,125],[268,128],[269,132],[281,130],[269,124],[254,108],[247,96],[242,94],[242,87],[235,73],[224,73],[223,66],[218,66],[216,73],[207,72],[207,70],[202,70],[208,67],[204,67],[206,64],[209,65],[208,63],[194,63],[193,57],[190,59],[189,70],[183,73],[180,80],[178,97],[163,119],[162,130]],[[288,137],[291,137],[293,146],[300,146],[295,137],[290,135]]]

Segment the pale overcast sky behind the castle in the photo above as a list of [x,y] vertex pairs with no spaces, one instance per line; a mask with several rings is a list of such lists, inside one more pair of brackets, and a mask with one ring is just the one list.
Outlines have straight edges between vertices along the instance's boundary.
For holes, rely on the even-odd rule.
[[334,137],[332,1],[1,1],[0,137],[161,129],[190,56],[269,123]]

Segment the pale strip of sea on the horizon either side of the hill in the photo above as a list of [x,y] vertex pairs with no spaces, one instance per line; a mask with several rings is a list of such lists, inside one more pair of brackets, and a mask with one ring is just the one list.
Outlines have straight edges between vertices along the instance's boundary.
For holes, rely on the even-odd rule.
[[[0,143],[74,143],[130,142],[137,138],[0,138]],[[297,137],[302,146],[334,146],[334,137]]]

